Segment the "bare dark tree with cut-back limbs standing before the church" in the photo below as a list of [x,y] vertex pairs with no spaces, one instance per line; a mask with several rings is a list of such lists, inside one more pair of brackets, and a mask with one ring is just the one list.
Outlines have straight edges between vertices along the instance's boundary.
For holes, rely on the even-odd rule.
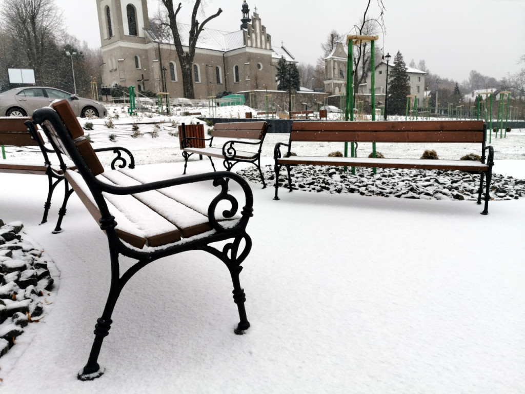
[[[14,1],[14,0],[13,0]],[[185,98],[195,98],[193,90],[193,59],[195,57],[195,46],[197,45],[198,36],[201,34],[204,26],[212,19],[216,18],[223,12],[219,8],[219,11],[214,15],[206,18],[203,23],[199,24],[197,20],[197,12],[201,6],[201,0],[195,0],[193,5],[191,27],[190,27],[190,38],[188,40],[188,50],[184,51],[181,43],[181,36],[178,32],[177,25],[177,14],[181,11],[182,3],[178,3],[177,9],[173,6],[173,0],[161,0],[162,4],[166,7],[167,11],[167,26],[169,26],[173,35],[173,41],[175,43],[175,50],[177,51],[178,61],[181,64],[182,73],[182,86]]]

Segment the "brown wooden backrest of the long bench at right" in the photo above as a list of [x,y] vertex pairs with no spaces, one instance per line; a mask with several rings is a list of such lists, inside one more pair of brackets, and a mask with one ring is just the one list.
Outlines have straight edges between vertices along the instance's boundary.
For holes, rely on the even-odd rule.
[[290,141],[485,142],[482,120],[293,122]]

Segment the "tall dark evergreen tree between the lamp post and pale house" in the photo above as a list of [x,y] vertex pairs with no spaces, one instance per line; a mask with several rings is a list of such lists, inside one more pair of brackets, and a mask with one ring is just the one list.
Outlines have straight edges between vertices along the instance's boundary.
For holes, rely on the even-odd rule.
[[406,111],[406,96],[410,94],[407,67],[400,51],[394,57],[392,74],[388,76],[388,115],[404,115]]

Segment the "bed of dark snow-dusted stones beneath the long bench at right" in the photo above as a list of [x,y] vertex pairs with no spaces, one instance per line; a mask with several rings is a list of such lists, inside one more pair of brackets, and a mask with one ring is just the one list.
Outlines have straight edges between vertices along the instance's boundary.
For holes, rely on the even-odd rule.
[[[238,171],[251,182],[261,183],[255,167]],[[265,165],[262,173],[269,187],[275,187],[273,165]],[[292,167],[292,189],[316,193],[359,193],[427,200],[477,200],[479,173],[441,170],[350,169],[320,165]],[[279,187],[288,187],[286,168],[279,174]],[[514,200],[525,197],[525,180],[492,174],[491,200]],[[485,190],[485,189],[484,189]],[[483,193],[485,195],[485,193]]]

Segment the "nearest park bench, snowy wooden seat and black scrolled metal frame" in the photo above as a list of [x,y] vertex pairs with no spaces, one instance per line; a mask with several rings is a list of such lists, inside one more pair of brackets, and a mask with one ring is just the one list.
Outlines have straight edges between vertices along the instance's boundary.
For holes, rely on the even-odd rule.
[[[66,169],[65,178],[107,235],[111,259],[106,306],[95,326],[88,362],[78,378],[91,380],[103,374],[98,357],[119,294],[134,274],[161,257],[201,250],[219,258],[232,277],[240,317],[235,332],[247,329],[250,324],[239,273],[251,249],[246,225],[253,213],[253,195],[248,183],[227,171],[163,178],[173,172],[172,164],[106,171],[83,136],[69,103],[61,100],[51,107],[36,110],[33,121],[43,128],[57,154],[67,154],[75,163],[77,170]],[[244,204],[240,213],[239,202]],[[78,242],[85,242],[85,236],[78,234]],[[216,242],[220,249],[212,246]],[[122,274],[119,255],[136,261]],[[89,263],[90,256],[85,258]]]

